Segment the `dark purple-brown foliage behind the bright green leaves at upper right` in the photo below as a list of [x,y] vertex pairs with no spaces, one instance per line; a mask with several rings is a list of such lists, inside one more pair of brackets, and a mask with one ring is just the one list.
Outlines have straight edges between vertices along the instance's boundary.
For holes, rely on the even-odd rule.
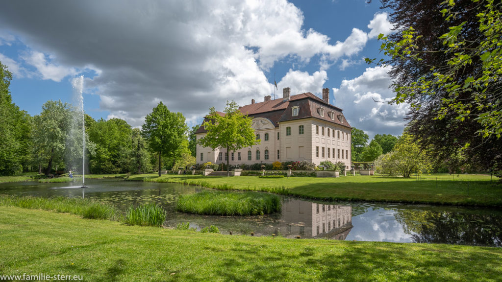
[[[381,0],[381,2],[383,9],[393,11],[391,22],[397,29],[396,33],[389,35],[389,41],[400,42],[403,40],[401,31],[410,27],[416,32],[416,36],[421,36],[415,42],[416,46],[412,53],[414,57],[393,56],[386,62],[393,66],[390,76],[395,81],[394,90],[399,90],[399,87],[413,88],[413,83],[419,82],[423,77],[434,79],[431,68],[435,67],[438,70],[453,57],[451,52],[445,52],[448,45],[445,45],[444,39],[440,38],[450,32],[450,27],[465,22],[459,37],[469,43],[469,48],[476,48],[476,44],[483,38],[479,30],[479,18],[476,16],[482,8],[482,3],[457,0],[454,1],[454,6],[449,6],[444,0]],[[441,12],[443,9],[450,10],[450,14],[455,14],[455,17],[447,19]],[[481,75],[482,63],[482,60],[474,59],[472,63],[465,64],[462,72],[455,75],[457,83],[463,84],[468,77]],[[418,87],[415,89],[413,93],[408,92],[402,102],[412,105],[407,116],[407,119],[412,121],[409,123],[409,132],[418,138],[424,149],[434,152],[434,157],[438,160],[448,160],[452,154],[457,154],[466,144],[470,144],[463,152],[467,160],[484,169],[500,170],[502,138],[493,135],[483,138],[479,134],[483,128],[473,118],[482,114],[482,107],[469,108],[470,115],[466,118],[459,118],[458,112],[446,111],[439,119],[437,117],[441,107],[444,106],[444,99],[452,99],[447,91],[448,88],[437,87],[433,89],[434,95]],[[399,94],[396,99],[400,99]],[[464,104],[475,104],[467,92],[459,92],[455,99],[463,101]],[[481,103],[489,101],[490,99],[486,99]]]

